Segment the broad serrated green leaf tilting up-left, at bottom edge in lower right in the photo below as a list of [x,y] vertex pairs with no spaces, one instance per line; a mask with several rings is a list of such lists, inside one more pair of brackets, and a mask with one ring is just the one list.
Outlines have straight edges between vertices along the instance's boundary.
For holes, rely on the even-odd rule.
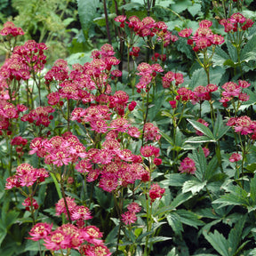
[[221,256],[231,256],[228,252],[228,241],[217,230],[214,233],[207,234],[203,232],[205,239],[212,245],[212,247],[220,253]]

